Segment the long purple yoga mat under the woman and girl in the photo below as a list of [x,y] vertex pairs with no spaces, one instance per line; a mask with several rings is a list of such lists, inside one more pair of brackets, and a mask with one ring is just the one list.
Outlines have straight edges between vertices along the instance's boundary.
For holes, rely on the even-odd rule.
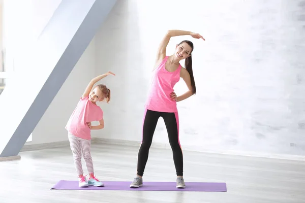
[[186,188],[176,188],[176,182],[143,182],[139,188],[130,188],[129,181],[102,181],[104,187],[78,187],[78,181],[61,180],[51,189],[58,190],[146,190],[146,191],[209,191],[226,192],[226,183],[186,182]]

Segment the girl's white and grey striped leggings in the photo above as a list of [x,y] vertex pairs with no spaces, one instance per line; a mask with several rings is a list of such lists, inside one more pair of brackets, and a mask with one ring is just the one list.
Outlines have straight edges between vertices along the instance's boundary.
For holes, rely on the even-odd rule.
[[69,138],[70,148],[72,150],[77,174],[83,175],[83,170],[81,165],[81,154],[83,155],[84,160],[86,162],[88,173],[89,174],[94,173],[93,162],[90,152],[91,140],[78,138],[70,132],[68,132],[68,138]]

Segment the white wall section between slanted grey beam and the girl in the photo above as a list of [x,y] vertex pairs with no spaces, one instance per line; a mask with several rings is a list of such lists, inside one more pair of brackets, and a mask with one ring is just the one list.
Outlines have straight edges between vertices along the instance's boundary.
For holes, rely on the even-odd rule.
[[26,145],[67,141],[66,123],[88,82],[95,76],[95,39],[75,65],[64,85],[33,131],[33,141]]

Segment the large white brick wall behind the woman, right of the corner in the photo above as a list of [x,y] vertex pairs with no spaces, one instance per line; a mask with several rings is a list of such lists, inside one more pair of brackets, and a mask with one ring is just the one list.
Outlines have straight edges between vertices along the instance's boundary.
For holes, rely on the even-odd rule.
[[[104,81],[112,101],[103,105],[105,129],[95,136],[141,141],[157,46],[167,29],[183,29],[206,41],[175,37],[167,49],[172,54],[184,39],[195,45],[198,93],[178,103],[182,147],[304,155],[305,72],[298,64],[305,35],[288,17],[297,7],[276,1],[118,1],[96,35],[96,74],[111,70],[117,76]],[[175,91],[185,90],[180,80]],[[154,143],[168,143],[162,119]]]

